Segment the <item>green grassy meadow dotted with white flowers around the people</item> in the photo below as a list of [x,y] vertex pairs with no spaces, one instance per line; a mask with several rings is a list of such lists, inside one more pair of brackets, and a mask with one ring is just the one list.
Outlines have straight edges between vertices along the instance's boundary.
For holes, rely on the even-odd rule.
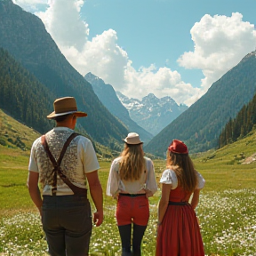
[[[243,164],[255,151],[256,132],[252,132],[220,150],[191,156],[206,180],[196,208],[206,255],[256,255],[256,162]],[[47,255],[39,214],[26,186],[28,157],[29,150],[0,145],[0,255]],[[104,193],[111,160],[100,161]],[[154,164],[159,180],[165,163],[154,160]],[[160,196],[159,186],[150,198],[151,215],[142,255],[155,253]],[[93,228],[91,255],[120,255],[115,209],[116,201],[104,195],[104,223]]]

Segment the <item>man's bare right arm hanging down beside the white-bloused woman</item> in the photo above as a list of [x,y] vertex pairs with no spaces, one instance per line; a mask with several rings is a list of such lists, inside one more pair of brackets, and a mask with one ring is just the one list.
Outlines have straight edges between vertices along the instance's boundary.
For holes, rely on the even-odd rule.
[[96,170],[94,172],[86,173],[86,178],[89,183],[92,201],[97,211],[94,212],[93,222],[96,223],[96,227],[99,227],[103,221],[103,195],[98,176],[98,171]]

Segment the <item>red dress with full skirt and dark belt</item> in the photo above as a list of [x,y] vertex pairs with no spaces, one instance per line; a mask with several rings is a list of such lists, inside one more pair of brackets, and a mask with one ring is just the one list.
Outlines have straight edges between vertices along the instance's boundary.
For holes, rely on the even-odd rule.
[[[171,190],[169,201],[188,202],[190,196],[178,186]],[[157,232],[156,256],[204,256],[196,213],[190,204],[168,205]]]

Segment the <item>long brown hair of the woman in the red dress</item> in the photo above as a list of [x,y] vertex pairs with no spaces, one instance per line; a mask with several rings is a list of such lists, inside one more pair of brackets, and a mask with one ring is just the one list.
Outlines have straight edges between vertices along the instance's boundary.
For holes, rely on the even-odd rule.
[[180,186],[193,192],[196,188],[197,177],[194,164],[188,154],[176,154],[168,150],[166,167],[172,169],[176,175]]

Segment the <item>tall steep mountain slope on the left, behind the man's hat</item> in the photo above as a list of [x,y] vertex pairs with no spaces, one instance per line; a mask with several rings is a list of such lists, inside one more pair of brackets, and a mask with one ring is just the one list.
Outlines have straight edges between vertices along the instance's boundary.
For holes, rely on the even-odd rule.
[[[77,107],[88,116],[79,118],[84,131],[102,145],[114,147],[122,143],[127,128],[105,108],[89,84],[60,52],[42,20],[23,11],[11,0],[0,1],[0,47],[7,50],[23,68],[52,93],[54,99],[74,96]],[[49,106],[49,102],[42,104]],[[40,105],[35,111],[40,111]],[[46,132],[46,127],[42,127]]]

